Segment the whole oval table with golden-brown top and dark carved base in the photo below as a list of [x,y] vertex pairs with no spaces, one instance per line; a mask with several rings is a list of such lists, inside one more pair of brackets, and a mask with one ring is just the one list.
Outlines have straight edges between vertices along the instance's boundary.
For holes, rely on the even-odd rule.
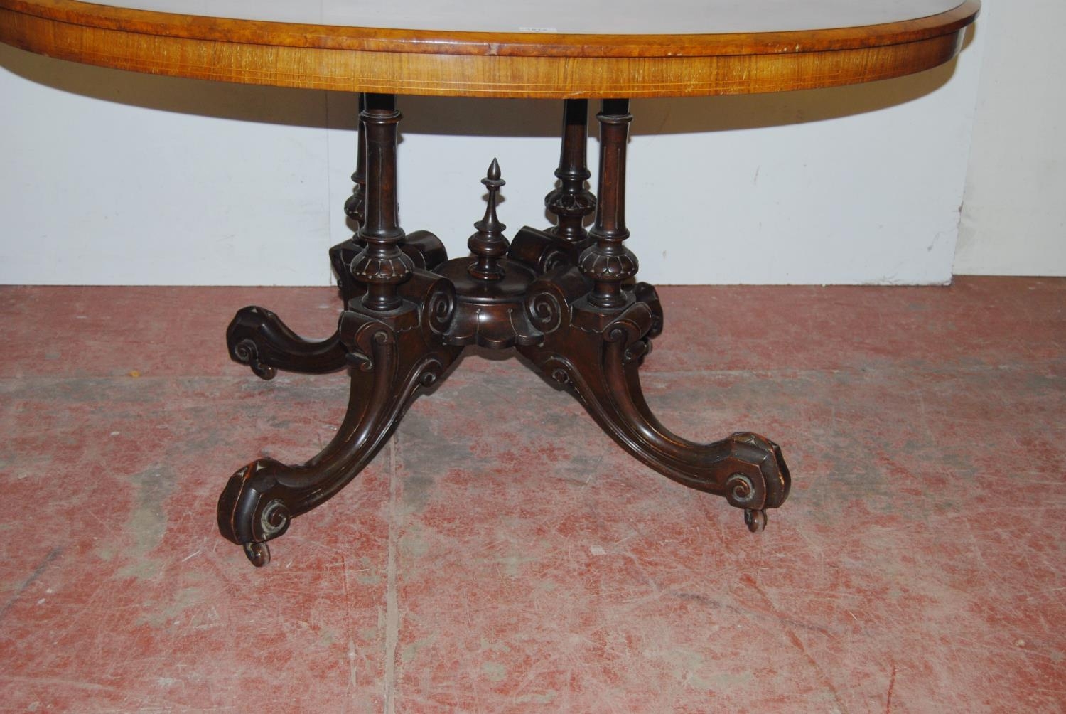
[[[655,12],[649,12],[652,7]],[[978,0],[0,0],[0,41],[123,69],[360,93],[357,233],[329,251],[343,300],[323,340],[269,310],[237,313],[230,356],[263,379],[278,369],[348,369],[336,437],[308,462],[257,459],[230,477],[219,528],[256,566],[293,518],[351,481],[411,401],[467,346],[514,348],[570,391],[623,448],[690,488],[725,497],[753,531],[789,495],[774,442],[738,432],[696,444],[651,413],[639,368],[662,332],[655,288],[626,247],[629,99],[835,86],[942,64],[960,49]],[[432,233],[400,227],[397,94],[563,99],[559,186],[547,229],[508,241],[497,217],[504,180],[482,178],[484,218],[470,255],[448,259]],[[588,100],[600,99],[598,195],[585,186]],[[592,227],[585,219],[594,216]],[[520,395],[515,395],[520,406]]]

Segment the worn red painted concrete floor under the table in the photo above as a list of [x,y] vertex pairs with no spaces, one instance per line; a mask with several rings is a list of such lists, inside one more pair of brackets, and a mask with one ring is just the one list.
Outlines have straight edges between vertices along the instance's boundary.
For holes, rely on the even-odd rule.
[[1066,281],[662,297],[649,401],[781,444],[764,533],[473,355],[254,569],[215,499],[345,377],[223,333],[327,334],[334,291],[0,289],[0,709],[1063,711]]

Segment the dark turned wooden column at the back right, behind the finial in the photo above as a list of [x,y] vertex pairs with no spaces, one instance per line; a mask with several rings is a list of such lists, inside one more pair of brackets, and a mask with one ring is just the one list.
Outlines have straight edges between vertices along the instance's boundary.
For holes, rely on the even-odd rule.
[[555,170],[561,185],[545,196],[544,205],[555,215],[555,225],[548,232],[568,243],[580,243],[588,237],[584,218],[596,208],[596,196],[585,188],[593,175],[585,162],[587,147],[588,100],[567,99],[563,109],[563,148]]

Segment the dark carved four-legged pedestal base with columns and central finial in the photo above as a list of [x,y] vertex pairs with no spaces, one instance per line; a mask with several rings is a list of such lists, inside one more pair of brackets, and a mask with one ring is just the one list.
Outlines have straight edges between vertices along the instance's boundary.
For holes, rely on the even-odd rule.
[[[472,255],[447,260],[433,234],[405,236],[395,225],[399,113],[389,96],[367,95],[364,101],[356,192],[346,206],[360,231],[330,250],[345,305],[336,333],[306,340],[270,311],[245,307],[226,335],[230,356],[263,379],[277,369],[321,374],[346,367],[348,412],[333,441],[307,463],[258,459],[240,469],[219,499],[222,535],[243,545],[253,564],[265,565],[266,541],[351,481],[419,392],[441,378],[468,345],[515,348],[571,392],[635,458],[689,488],[725,497],[744,509],[750,530],[761,530],[766,509],[779,507],[789,493],[778,446],[748,432],[712,444],[681,439],[656,419],[641,391],[639,368],[662,331],[663,316],[655,288],[633,281],[636,259],[621,247],[628,236],[623,220],[628,104],[607,100],[598,115],[598,204],[584,189],[587,105],[567,100],[555,172],[562,187],[547,197],[559,225],[550,232],[522,228],[508,244],[496,218],[496,191],[503,181],[494,161],[483,180],[489,206],[474,224]],[[585,234],[581,222],[594,207],[596,222]]]

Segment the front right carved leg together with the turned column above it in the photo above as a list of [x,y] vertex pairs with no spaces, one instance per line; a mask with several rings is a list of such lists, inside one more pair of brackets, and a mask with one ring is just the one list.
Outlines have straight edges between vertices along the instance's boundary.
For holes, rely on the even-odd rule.
[[[752,530],[765,510],[788,497],[790,476],[780,448],[741,432],[711,444],[674,434],[651,413],[639,368],[650,337],[662,329],[655,290],[632,285],[636,257],[624,245],[626,142],[632,115],[625,99],[608,99],[600,123],[599,197],[595,240],[577,268],[561,269],[530,286],[527,310],[544,334],[519,347],[546,376],[569,387],[623,448],[659,473],[744,509]],[[630,287],[632,285],[632,287]]]

